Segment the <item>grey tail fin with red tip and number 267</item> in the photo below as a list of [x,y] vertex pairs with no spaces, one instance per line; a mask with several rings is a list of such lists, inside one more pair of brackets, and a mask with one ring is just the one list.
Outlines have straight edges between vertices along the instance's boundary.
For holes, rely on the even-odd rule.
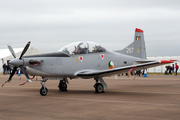
[[117,52],[146,59],[146,47],[143,30],[136,28],[134,42],[125,47],[123,50]]

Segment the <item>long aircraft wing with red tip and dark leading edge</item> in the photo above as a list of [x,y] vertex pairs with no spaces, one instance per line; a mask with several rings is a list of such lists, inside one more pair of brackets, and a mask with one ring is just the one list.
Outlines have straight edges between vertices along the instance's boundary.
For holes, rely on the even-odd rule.
[[130,69],[132,71],[142,70],[146,68],[151,68],[163,64],[173,63],[175,60],[161,60],[161,61],[153,61],[148,63],[141,63],[135,65],[129,65],[124,67],[118,67],[114,69],[106,69],[106,70],[84,70],[76,73],[76,76],[81,78],[94,78],[94,77],[105,77],[114,74],[122,74],[127,73]]

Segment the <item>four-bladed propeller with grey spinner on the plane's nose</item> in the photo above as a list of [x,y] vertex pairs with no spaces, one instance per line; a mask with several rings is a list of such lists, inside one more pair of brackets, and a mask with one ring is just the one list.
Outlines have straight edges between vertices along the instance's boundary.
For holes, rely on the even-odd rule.
[[[28,81],[29,81],[29,82],[32,82],[32,81],[30,80],[30,78],[29,78],[28,73],[26,72],[25,68],[23,67],[23,60],[22,60],[22,57],[23,57],[23,55],[26,53],[26,51],[28,50],[28,48],[29,48],[29,46],[30,46],[30,43],[31,43],[31,42],[29,41],[29,42],[26,44],[26,46],[24,47],[24,49],[23,49],[23,51],[22,51],[19,59],[16,58],[16,54],[15,54],[14,50],[13,50],[12,47],[8,44],[7,47],[8,47],[8,49],[9,49],[9,51],[11,52],[11,54],[13,55],[13,57],[15,58],[15,59],[9,61],[9,63],[12,64],[12,65],[14,65],[15,67],[13,68],[13,71],[12,71],[11,75],[9,76],[9,79],[8,79],[5,83],[10,82],[10,81],[12,80],[12,77],[14,76],[14,74],[15,74],[15,72],[16,72],[16,70],[17,70],[18,67],[21,68],[21,70],[23,71],[23,73],[24,73],[24,75],[26,76],[26,78],[28,79]],[[5,83],[4,83],[4,84],[5,84]],[[4,84],[2,85],[2,87],[4,86]]]

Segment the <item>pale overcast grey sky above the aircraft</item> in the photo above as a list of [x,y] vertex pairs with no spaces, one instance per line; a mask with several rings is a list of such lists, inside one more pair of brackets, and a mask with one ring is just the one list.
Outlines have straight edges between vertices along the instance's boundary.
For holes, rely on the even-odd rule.
[[7,43],[56,52],[77,41],[110,50],[144,31],[147,56],[180,56],[179,0],[0,0],[0,49]]

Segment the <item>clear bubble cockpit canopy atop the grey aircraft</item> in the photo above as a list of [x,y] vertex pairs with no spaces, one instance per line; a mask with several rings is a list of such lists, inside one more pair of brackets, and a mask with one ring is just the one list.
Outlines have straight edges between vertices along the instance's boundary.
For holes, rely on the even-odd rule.
[[84,41],[71,43],[69,45],[64,46],[59,51],[69,55],[106,52],[106,50],[103,47],[101,47],[99,44],[95,42],[84,42]]

